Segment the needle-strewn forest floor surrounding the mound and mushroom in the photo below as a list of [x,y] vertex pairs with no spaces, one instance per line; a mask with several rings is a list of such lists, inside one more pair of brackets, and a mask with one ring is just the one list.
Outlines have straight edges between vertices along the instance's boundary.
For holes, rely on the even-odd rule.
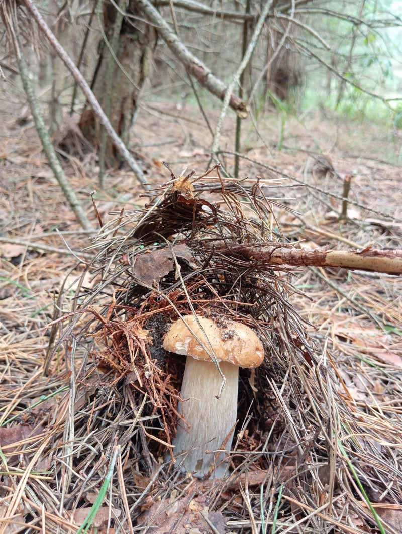
[[[82,231],[46,162],[27,108],[19,106],[17,99],[4,95],[1,99],[0,446],[4,464],[0,533],[77,532],[110,472],[107,466],[113,459],[114,427],[102,412],[96,440],[89,440],[94,432],[91,430],[85,439],[74,441],[71,427],[75,415],[69,412],[72,401],[68,390],[71,372],[64,349],[53,359],[49,374],[43,375],[48,325],[63,282],[62,311],[68,312],[73,302],[76,279],[84,269],[82,263],[77,266],[77,257],[89,258],[92,254],[82,252],[90,244],[90,235],[99,228],[90,192],[97,191],[94,200],[104,221],[116,217],[122,208],[144,208],[147,199],[141,197],[143,190],[127,168],[109,172],[101,189],[93,154],[84,161],[69,158],[64,161],[66,175],[96,229]],[[216,113],[208,111],[207,115],[215,124]],[[227,151],[223,162],[230,172],[234,126],[233,116],[228,116],[221,147]],[[402,247],[402,171],[387,162],[397,161],[400,142],[398,147],[389,131],[317,112],[306,115],[303,124],[294,119],[285,123],[281,151],[275,147],[278,121],[270,113],[259,118],[258,134],[255,130],[247,133],[243,139],[247,158],[240,160],[240,177],[261,176],[294,186],[270,192],[279,204],[274,206],[275,217],[290,241],[310,248]],[[265,144],[266,140],[270,142]],[[133,128],[131,150],[149,182],[163,183],[170,175],[162,161],[177,174],[184,168],[200,173],[206,170],[210,142],[210,132],[198,108],[186,103],[146,102]],[[320,173],[322,154],[329,155],[337,176]],[[340,222],[337,215],[345,175],[352,175],[352,186],[348,218]],[[322,351],[322,365],[333,373],[322,388],[322,403],[326,395],[334,396],[338,410],[334,421],[343,434],[337,446],[335,442],[336,454],[328,453],[329,477],[319,472],[322,462],[314,464],[317,452],[306,452],[316,469],[314,472],[311,467],[308,480],[314,490],[310,493],[305,488],[300,490],[293,475],[288,480],[272,476],[268,464],[258,460],[257,471],[264,475],[258,479],[259,485],[251,477],[245,486],[239,487],[238,483],[233,488],[220,488],[213,498],[209,493],[209,500],[200,491],[194,497],[198,500],[192,512],[188,508],[183,512],[184,520],[187,525],[195,525],[190,515],[198,509],[207,511],[207,523],[193,530],[180,526],[182,509],[176,506],[171,512],[177,520],[176,530],[170,531],[223,534],[226,528],[257,534],[270,532],[275,523],[276,532],[402,532],[401,278],[319,268],[294,270],[289,277],[298,291],[289,296],[290,303],[308,321],[306,329]],[[93,284],[93,277],[86,274],[83,285],[90,289]],[[93,411],[100,398],[94,400],[88,383],[75,384],[77,395],[81,386],[86,388],[86,396],[80,397],[80,405],[76,403],[77,414]],[[112,402],[109,393],[103,395],[101,402]],[[294,409],[296,400],[291,402]],[[356,423],[353,428],[350,422],[346,425],[348,414]],[[333,421],[332,416],[328,420]],[[85,421],[80,424],[88,424],[89,429],[88,418]],[[288,420],[287,424],[289,428]],[[100,443],[99,430],[104,427],[108,428],[107,442]],[[322,439],[322,428],[317,430],[318,439]],[[310,429],[312,434],[314,431]],[[327,426],[326,431],[330,435],[331,428]],[[283,449],[290,467],[294,467],[301,458],[295,460],[294,453],[288,454],[289,450],[282,447],[284,434],[283,429],[271,434],[270,450],[274,451],[275,446],[278,449],[272,465],[278,466],[278,451]],[[250,437],[243,449],[249,447],[257,454],[263,436],[256,431],[253,443]],[[82,456],[90,453],[91,460],[83,462]],[[330,458],[334,457],[331,464]],[[109,533],[119,531],[119,525],[120,532],[130,532],[124,522],[129,509],[137,521],[135,531],[142,532],[140,513],[152,511],[155,502],[163,499],[174,504],[176,497],[181,502],[183,496],[190,496],[183,481],[179,485],[177,477],[172,481],[162,476],[159,468],[152,470],[149,458],[144,463],[124,451],[114,461],[113,484],[104,504],[97,503],[98,513],[91,527],[97,527],[98,532],[107,531],[109,514],[114,525]],[[250,470],[253,472],[252,466]],[[126,494],[121,483],[127,473],[134,482]],[[86,481],[85,489],[82,481]],[[333,504],[329,504],[328,494]],[[169,521],[172,518],[169,516]],[[169,524],[173,528],[173,523]],[[165,528],[159,525],[152,532],[161,534]]]

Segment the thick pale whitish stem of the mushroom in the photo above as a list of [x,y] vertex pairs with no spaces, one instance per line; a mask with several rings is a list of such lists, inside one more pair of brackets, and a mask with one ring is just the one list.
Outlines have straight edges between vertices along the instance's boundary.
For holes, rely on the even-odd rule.
[[175,456],[185,452],[184,467],[189,472],[195,471],[197,477],[207,474],[211,464],[217,466],[215,476],[222,477],[227,466],[222,462],[225,453],[220,453],[216,458],[206,450],[220,449],[231,431],[224,444],[225,449],[230,449],[232,444],[233,424],[237,415],[239,367],[228,362],[220,362],[219,367],[225,375],[226,384],[217,399],[215,395],[222,383],[222,376],[215,364],[187,356],[181,390],[184,402],[179,403],[178,410],[184,412],[184,418],[191,428],[187,429],[181,423],[173,444]]

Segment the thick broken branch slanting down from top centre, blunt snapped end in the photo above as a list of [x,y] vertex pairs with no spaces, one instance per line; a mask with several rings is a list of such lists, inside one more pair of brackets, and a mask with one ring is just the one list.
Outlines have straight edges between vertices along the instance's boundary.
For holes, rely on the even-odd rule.
[[[187,47],[179,40],[178,36],[169,28],[168,23],[164,20],[159,11],[157,11],[148,0],[137,0],[137,4],[140,6],[149,22],[155,25],[159,35],[163,38],[177,59],[188,69],[188,72],[193,74],[201,85],[208,89],[212,95],[223,100],[225,98],[226,85],[214,76],[208,67],[187,49]],[[230,96],[229,105],[241,119],[247,117],[247,104],[239,97],[232,94]]]

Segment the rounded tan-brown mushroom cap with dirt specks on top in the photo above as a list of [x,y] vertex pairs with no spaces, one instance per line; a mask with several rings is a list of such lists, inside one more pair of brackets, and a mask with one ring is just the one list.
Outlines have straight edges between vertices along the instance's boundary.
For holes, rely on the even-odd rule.
[[[255,332],[243,323],[225,319],[223,325],[217,325],[212,319],[194,315],[186,316],[185,320],[196,336],[209,348],[205,334],[207,335],[217,360],[231,362],[239,367],[258,367],[262,364],[263,344]],[[192,356],[197,360],[211,361],[207,351],[195,339],[183,319],[178,319],[171,325],[164,337],[163,348],[176,354]]]

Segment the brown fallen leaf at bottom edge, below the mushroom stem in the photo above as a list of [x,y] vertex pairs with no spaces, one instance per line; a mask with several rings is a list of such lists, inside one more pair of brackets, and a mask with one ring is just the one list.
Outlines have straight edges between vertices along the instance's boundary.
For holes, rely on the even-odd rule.
[[151,508],[137,518],[137,524],[151,529],[153,534],[225,532],[226,523],[226,517],[220,512],[209,511],[207,497],[204,495],[195,499],[183,497],[182,499],[154,501]]

